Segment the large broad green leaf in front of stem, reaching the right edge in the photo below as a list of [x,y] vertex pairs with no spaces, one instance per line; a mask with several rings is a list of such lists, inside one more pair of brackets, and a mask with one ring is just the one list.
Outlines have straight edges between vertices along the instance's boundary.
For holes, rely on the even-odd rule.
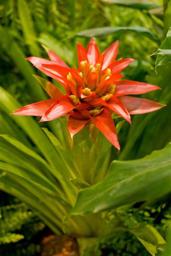
[[79,191],[71,215],[97,213],[119,206],[146,201],[170,191],[171,144],[145,158],[113,161],[104,180]]

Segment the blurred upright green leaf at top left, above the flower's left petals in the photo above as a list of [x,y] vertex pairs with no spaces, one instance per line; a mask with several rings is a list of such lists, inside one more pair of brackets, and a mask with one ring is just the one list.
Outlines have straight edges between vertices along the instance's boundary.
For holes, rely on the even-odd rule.
[[34,23],[31,17],[29,5],[26,0],[18,0],[18,16],[20,18],[22,31],[26,39],[26,43],[29,46],[31,55],[40,57],[40,50],[36,42],[36,32],[34,29]]

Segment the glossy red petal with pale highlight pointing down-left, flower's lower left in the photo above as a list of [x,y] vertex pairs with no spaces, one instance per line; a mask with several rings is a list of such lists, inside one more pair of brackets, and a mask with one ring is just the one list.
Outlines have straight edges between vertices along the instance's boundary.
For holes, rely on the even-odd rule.
[[75,106],[71,103],[68,95],[65,95],[55,102],[42,116],[40,122],[50,121],[60,116],[66,115],[68,112],[73,110]]

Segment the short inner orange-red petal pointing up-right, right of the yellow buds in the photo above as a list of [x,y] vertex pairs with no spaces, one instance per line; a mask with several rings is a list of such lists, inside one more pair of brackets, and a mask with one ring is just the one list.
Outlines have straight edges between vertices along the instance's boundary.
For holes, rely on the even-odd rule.
[[102,96],[107,90],[108,87],[115,83],[115,81],[117,81],[118,79],[124,77],[122,74],[115,74],[115,76],[110,77],[107,80],[102,81],[98,87],[96,88],[95,92],[99,95]]

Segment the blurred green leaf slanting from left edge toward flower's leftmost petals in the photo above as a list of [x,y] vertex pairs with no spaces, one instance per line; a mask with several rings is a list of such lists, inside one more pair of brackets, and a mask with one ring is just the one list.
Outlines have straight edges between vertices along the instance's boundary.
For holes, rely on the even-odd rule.
[[30,88],[30,94],[33,101],[42,101],[46,99],[45,93],[41,88],[41,85],[35,80],[32,74],[35,74],[34,69],[28,60],[25,60],[26,56],[22,52],[22,49],[15,42],[12,35],[7,29],[0,25],[0,44],[4,48],[6,54],[12,59],[19,69],[19,72],[25,77]]

